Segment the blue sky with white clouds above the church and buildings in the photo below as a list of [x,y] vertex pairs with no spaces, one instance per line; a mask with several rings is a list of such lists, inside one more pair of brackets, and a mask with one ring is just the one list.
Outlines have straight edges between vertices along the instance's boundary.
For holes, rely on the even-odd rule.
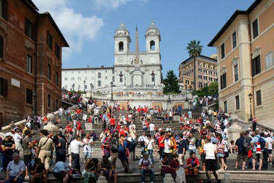
[[113,66],[114,33],[121,25],[131,35],[135,51],[138,26],[139,51],[145,51],[145,31],[153,20],[160,30],[162,75],[178,77],[179,64],[189,55],[190,40],[200,40],[201,55],[216,48],[208,43],[236,10],[247,10],[254,0],[32,0],[40,13],[49,12],[70,47],[62,49],[62,69]]

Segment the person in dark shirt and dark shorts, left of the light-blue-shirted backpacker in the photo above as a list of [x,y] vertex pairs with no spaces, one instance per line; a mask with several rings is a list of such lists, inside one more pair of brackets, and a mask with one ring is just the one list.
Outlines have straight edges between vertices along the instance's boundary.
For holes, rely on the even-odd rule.
[[[242,160],[242,170],[245,170],[245,163],[248,161],[248,143],[247,143],[247,139],[245,138],[245,133],[244,132],[240,132],[240,138],[238,138],[236,140],[236,147],[238,149],[238,154],[237,154],[237,160],[236,160],[236,164],[235,164],[235,168],[234,170],[238,170],[238,164],[240,162],[240,160]],[[247,144],[247,145],[246,145]]]

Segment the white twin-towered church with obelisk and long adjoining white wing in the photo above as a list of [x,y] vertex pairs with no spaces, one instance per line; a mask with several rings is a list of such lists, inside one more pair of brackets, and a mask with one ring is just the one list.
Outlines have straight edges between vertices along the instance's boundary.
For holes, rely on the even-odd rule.
[[[139,51],[137,28],[135,36],[136,48],[135,51],[130,51],[131,37],[127,27],[121,23],[114,34],[114,66],[62,69],[62,87],[83,91],[90,90],[93,86],[92,89],[97,91],[110,88],[110,82],[113,82],[114,86],[127,86],[123,87],[123,91],[134,93],[142,93],[141,90],[146,90],[147,86],[155,91],[162,88],[161,38],[158,27],[152,21],[147,28],[146,51]],[[119,87],[115,90],[119,90]]]

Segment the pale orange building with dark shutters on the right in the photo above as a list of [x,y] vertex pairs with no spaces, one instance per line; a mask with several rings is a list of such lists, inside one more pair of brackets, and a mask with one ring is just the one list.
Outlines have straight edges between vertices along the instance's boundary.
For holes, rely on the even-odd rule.
[[250,112],[261,122],[274,117],[273,17],[274,1],[256,0],[236,10],[208,45],[217,48],[220,107],[240,119]]

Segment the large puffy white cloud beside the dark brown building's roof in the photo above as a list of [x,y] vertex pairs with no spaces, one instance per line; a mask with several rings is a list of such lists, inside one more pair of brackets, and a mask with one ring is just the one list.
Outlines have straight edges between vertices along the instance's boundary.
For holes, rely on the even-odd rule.
[[103,27],[103,19],[83,16],[69,7],[69,0],[33,0],[39,12],[49,12],[70,47],[63,49],[62,59],[68,60],[73,52],[81,51],[86,40],[94,40]]

